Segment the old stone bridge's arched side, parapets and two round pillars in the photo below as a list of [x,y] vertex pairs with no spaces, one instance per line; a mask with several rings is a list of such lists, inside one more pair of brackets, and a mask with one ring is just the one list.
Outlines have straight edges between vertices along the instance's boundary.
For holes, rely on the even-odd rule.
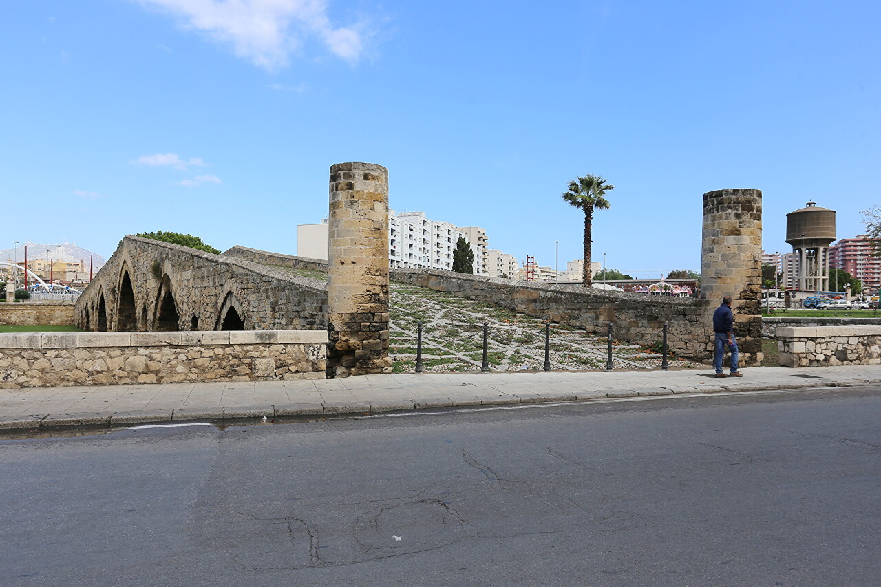
[[[707,359],[710,314],[734,298],[745,367],[761,354],[761,192],[704,194],[702,300],[583,291],[433,271],[395,279],[492,301],[560,323],[650,344],[670,327],[671,346]],[[341,163],[329,175],[329,262],[233,247],[213,255],[126,236],[85,288],[76,323],[89,331],[328,331],[327,375],[389,373],[388,171]],[[294,271],[285,271],[289,268]],[[297,270],[326,271],[327,280]]]

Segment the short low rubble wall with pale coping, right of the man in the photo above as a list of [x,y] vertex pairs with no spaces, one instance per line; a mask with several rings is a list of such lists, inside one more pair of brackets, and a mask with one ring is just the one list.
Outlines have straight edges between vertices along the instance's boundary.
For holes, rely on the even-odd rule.
[[881,364],[881,326],[777,329],[782,367]]

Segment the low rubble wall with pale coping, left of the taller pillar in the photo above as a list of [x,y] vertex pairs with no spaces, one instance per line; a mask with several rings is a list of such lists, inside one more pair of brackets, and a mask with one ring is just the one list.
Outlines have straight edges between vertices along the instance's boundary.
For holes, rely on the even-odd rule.
[[327,331],[0,334],[0,389],[324,379]]

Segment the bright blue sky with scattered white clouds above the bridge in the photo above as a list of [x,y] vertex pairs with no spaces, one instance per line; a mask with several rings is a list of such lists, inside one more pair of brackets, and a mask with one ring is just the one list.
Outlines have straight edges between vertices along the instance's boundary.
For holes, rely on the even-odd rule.
[[[328,167],[390,204],[581,256],[577,175],[616,186],[594,260],[700,267],[704,192],[809,198],[862,232],[881,169],[877,2],[7,0],[0,249],[173,230],[294,253]],[[652,270],[652,271],[649,271]]]

